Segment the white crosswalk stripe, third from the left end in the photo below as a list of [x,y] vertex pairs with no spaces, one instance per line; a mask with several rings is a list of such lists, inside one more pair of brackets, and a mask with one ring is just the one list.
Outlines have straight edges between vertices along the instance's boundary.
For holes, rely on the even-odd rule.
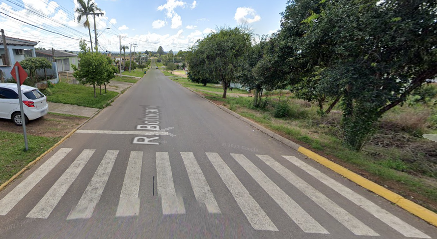
[[81,200],[67,217],[67,220],[78,218],[90,218],[97,203],[102,196],[103,189],[108,181],[109,174],[117,158],[118,150],[108,150],[100,162],[93,178],[83,192]]

